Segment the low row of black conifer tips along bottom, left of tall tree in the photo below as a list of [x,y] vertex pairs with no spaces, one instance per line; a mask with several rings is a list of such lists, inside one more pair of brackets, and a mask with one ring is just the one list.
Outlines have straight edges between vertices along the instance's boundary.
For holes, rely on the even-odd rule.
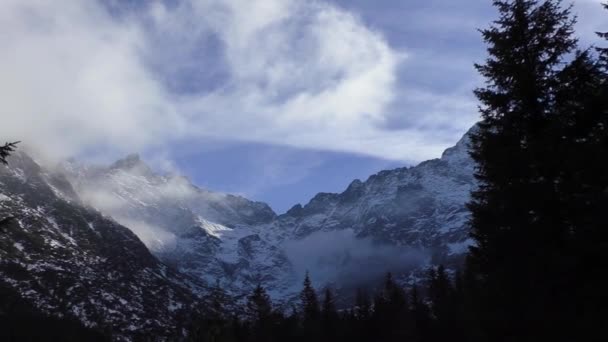
[[247,297],[244,312],[228,314],[228,296],[212,290],[206,314],[195,320],[190,341],[465,341],[478,334],[470,316],[470,282],[443,266],[431,268],[421,288],[400,286],[386,275],[374,293],[356,291],[355,303],[338,310],[336,295],[326,288],[319,296],[308,274],[297,304],[284,312],[275,307],[262,285]]

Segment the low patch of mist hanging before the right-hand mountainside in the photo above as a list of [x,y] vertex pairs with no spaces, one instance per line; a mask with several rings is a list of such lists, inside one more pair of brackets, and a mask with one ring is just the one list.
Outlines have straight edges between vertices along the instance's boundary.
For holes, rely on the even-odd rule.
[[284,247],[297,274],[309,271],[315,282],[344,286],[375,281],[386,272],[411,270],[429,260],[423,250],[358,238],[352,229],[316,232]]

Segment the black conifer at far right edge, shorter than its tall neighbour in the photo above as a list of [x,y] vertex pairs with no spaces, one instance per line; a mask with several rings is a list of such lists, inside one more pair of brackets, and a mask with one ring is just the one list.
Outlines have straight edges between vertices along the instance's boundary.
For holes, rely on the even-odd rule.
[[[559,155],[555,179],[563,235],[567,238],[556,258],[561,274],[551,291],[569,293],[560,307],[572,312],[573,329],[589,336],[603,334],[608,324],[608,83],[606,65],[598,65],[588,51],[579,52],[560,74],[557,96],[559,121],[552,149]],[[556,226],[558,224],[556,223]],[[567,276],[565,276],[567,275]],[[569,299],[569,300],[568,300]],[[579,308],[585,308],[580,310]],[[578,312],[577,312],[578,310]],[[576,314],[574,314],[576,312]],[[559,311],[558,311],[559,313]],[[580,334],[578,335],[580,336]]]

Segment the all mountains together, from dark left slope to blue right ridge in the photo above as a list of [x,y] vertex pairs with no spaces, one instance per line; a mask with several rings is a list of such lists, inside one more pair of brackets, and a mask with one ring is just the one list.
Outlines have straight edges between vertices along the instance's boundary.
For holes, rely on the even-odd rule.
[[18,152],[0,167],[0,287],[129,340],[179,335],[216,282],[234,303],[261,283],[288,304],[306,271],[338,292],[388,271],[412,281],[429,265],[459,262],[471,244],[469,134],[439,159],[281,215],[159,174],[137,155],[43,165]]

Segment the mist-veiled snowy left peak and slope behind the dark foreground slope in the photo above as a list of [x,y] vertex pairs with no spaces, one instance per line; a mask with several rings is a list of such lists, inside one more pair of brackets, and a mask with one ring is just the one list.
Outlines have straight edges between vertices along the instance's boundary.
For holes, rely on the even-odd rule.
[[175,175],[155,174],[137,156],[109,167],[63,165],[80,197],[129,227],[165,263],[233,293],[258,282],[278,291],[289,262],[260,229],[276,214],[265,203],[210,192]]

